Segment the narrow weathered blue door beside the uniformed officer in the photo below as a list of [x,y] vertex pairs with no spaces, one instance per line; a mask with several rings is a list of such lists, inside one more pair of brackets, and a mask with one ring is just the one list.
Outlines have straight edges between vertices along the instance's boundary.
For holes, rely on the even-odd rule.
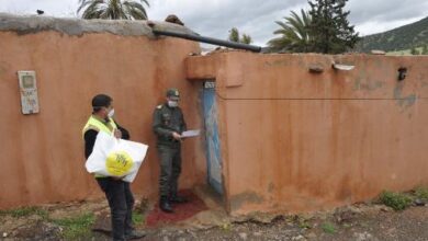
[[206,160],[209,183],[216,192],[223,194],[222,156],[218,139],[217,104],[215,82],[206,81],[203,90],[203,111],[205,120]]

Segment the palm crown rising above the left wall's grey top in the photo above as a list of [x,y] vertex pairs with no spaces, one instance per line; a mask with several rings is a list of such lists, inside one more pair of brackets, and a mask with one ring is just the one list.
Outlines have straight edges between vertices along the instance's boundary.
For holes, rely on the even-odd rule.
[[82,19],[147,20],[147,0],[79,0]]

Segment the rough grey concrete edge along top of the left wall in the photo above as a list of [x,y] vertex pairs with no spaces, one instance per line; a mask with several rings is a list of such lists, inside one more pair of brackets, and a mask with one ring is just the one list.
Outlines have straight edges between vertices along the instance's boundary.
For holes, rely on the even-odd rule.
[[13,15],[0,13],[0,32],[15,32],[18,34],[34,34],[43,31],[56,31],[68,35],[83,35],[87,33],[111,33],[123,36],[153,37],[148,22],[157,27],[180,33],[193,34],[191,30],[168,22],[135,21],[135,20],[82,20],[72,18],[54,18],[41,15]]

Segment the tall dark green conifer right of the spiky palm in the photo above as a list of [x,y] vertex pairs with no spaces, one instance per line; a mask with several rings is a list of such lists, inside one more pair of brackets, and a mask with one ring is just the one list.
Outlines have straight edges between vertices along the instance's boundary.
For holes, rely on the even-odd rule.
[[309,0],[312,48],[324,54],[339,54],[353,48],[359,41],[343,11],[348,0]]

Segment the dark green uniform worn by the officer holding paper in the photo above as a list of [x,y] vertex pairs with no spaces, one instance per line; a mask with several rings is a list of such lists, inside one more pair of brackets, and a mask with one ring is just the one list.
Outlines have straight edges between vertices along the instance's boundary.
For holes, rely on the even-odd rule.
[[181,173],[181,141],[172,137],[172,133],[181,135],[187,129],[181,108],[170,107],[168,103],[157,106],[153,129],[158,137],[157,148],[160,158],[159,195],[160,199],[168,199],[177,196],[178,179]]

